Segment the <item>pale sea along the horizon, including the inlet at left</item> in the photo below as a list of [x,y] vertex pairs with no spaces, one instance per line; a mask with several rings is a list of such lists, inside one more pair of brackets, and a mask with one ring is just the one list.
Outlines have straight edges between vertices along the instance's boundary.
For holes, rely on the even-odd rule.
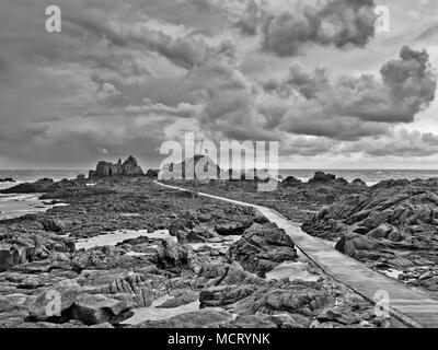
[[[295,176],[302,182],[313,177],[316,171],[334,174],[348,182],[361,178],[368,186],[376,185],[384,179],[415,179],[438,177],[438,170],[280,170],[278,174],[283,177]],[[15,183],[0,183],[0,189],[5,189],[21,183],[32,183],[39,178],[53,178],[60,180],[72,179],[79,174],[88,174],[85,170],[0,170],[0,179],[13,178]],[[2,195],[0,194],[0,220],[18,218],[23,214],[46,211],[53,205],[38,199],[39,194],[30,195]]]

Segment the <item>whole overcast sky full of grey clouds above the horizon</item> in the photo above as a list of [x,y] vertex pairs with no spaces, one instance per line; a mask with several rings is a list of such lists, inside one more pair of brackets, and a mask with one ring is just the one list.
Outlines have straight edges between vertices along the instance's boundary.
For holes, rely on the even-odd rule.
[[437,71],[435,0],[1,0],[0,168],[153,167],[185,131],[279,141],[288,168],[438,168]]

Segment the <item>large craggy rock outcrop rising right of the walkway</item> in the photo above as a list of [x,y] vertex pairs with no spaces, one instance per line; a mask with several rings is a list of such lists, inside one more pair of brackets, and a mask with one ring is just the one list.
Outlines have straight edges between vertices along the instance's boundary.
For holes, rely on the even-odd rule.
[[387,268],[438,262],[438,179],[385,180],[321,209],[302,229]]

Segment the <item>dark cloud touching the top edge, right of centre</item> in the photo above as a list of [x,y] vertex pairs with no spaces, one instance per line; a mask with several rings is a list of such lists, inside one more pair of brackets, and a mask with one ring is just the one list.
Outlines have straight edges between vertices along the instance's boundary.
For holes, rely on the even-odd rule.
[[296,56],[308,45],[362,47],[374,34],[373,0],[327,0],[270,15],[263,25],[263,49]]

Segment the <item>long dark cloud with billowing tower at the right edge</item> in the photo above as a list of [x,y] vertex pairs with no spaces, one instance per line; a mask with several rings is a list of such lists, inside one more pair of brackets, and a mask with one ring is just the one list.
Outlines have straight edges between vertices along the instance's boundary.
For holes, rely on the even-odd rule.
[[278,106],[263,113],[275,116],[268,118],[272,128],[357,140],[384,135],[390,125],[413,122],[435,98],[437,82],[426,51],[403,47],[400,58],[385,63],[380,74],[380,81],[367,74],[331,81],[325,69],[309,73],[293,65],[283,81],[263,83],[265,92],[290,101],[289,108],[283,117]]

